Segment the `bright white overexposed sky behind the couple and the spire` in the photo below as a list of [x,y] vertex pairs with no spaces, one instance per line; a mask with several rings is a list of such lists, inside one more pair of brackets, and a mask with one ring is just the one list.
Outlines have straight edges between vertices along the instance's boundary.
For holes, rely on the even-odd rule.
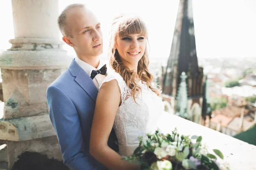
[[[114,16],[135,13],[146,23],[150,57],[169,57],[179,0],[59,0],[59,13],[70,3],[84,3],[102,23],[104,53]],[[256,0],[193,0],[199,58],[256,57]],[[0,1],[0,50],[14,38],[11,0]],[[67,45],[64,48],[73,54]]]

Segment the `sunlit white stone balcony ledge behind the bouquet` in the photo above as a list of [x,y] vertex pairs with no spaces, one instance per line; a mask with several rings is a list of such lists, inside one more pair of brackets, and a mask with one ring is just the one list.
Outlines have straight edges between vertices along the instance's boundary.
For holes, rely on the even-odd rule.
[[202,136],[202,143],[206,144],[209,151],[218,149],[223,153],[224,161],[229,164],[230,170],[256,170],[255,145],[167,112],[163,113],[160,122],[163,133],[172,133],[172,130],[177,127],[178,132],[183,135]]

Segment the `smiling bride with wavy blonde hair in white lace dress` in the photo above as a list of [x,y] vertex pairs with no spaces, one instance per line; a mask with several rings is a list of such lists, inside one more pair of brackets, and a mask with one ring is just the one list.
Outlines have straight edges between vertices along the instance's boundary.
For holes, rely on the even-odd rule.
[[[147,30],[137,16],[121,15],[113,20],[109,46],[113,73],[99,87],[90,135],[90,153],[111,170],[139,170],[123,161],[139,145],[138,136],[157,130],[164,105],[160,88],[148,71]],[[108,147],[114,127],[119,153]]]

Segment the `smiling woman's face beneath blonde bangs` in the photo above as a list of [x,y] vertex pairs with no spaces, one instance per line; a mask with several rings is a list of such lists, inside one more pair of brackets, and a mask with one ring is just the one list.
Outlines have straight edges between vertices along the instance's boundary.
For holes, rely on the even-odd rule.
[[128,34],[117,37],[115,48],[118,51],[121,62],[128,68],[136,69],[138,62],[145,53],[146,38],[140,34]]

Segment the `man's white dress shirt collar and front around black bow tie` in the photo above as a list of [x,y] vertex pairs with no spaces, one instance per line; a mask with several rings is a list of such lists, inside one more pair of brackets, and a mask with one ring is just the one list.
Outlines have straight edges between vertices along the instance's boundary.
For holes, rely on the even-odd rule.
[[[103,64],[101,62],[99,62],[99,66],[98,68],[94,68],[93,66],[91,66],[90,64],[82,61],[81,59],[79,59],[77,56],[75,57],[75,61],[76,63],[89,75],[92,73],[93,70],[99,70],[100,68],[102,68]],[[107,75],[107,74],[106,74]],[[97,74],[94,79],[93,79],[93,83],[95,84],[96,88],[99,90],[99,85],[101,85],[103,79],[105,78],[105,75],[102,74]]]

